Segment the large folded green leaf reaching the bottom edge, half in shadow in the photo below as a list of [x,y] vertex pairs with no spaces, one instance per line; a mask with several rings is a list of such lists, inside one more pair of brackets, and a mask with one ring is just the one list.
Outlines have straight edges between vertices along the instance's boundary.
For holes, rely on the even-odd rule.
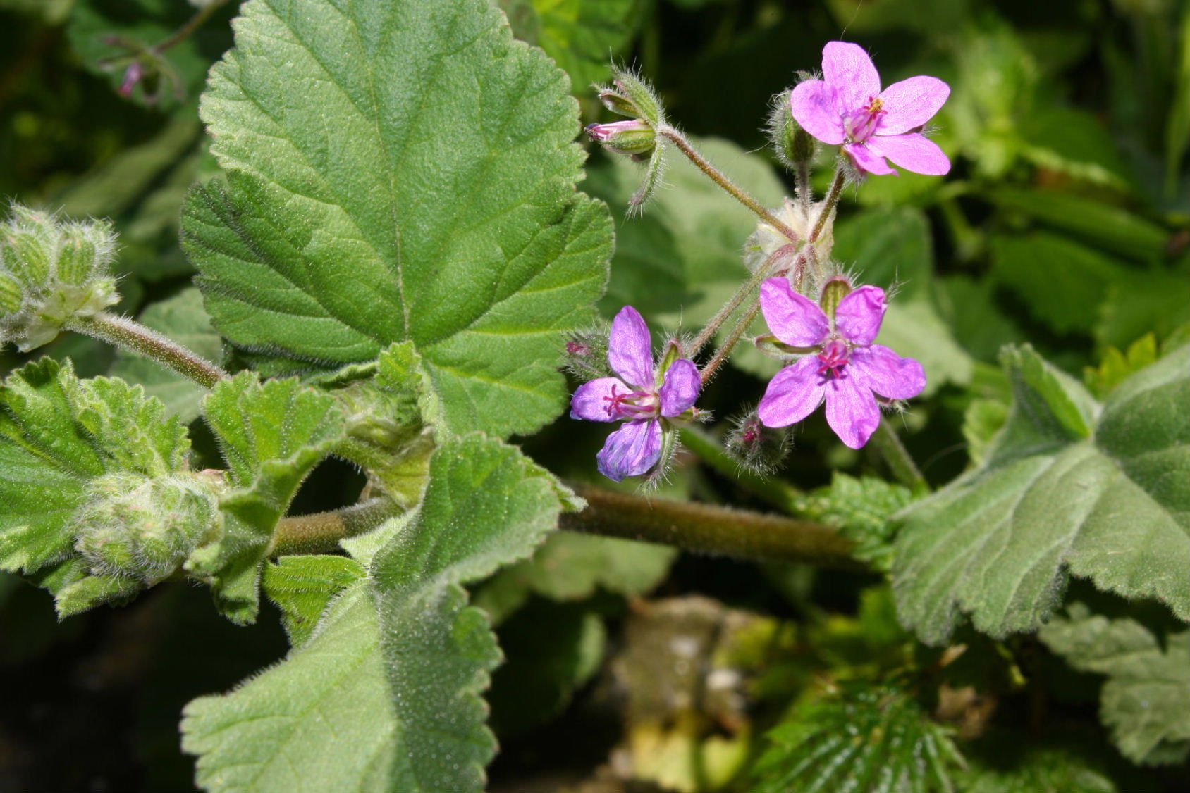
[[[462,585],[532,553],[560,491],[516,448],[446,441],[421,506],[377,529],[368,578],[313,636],[221,697],[192,701],[183,748],[213,791],[463,791],[495,741],[480,692],[500,652]],[[394,530],[395,529],[395,530]]]

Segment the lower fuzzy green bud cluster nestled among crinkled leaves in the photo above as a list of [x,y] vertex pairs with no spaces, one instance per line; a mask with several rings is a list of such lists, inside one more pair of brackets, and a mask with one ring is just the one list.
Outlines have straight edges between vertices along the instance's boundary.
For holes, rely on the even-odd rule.
[[75,514],[75,549],[99,575],[151,584],[219,530],[214,490],[190,474],[112,473],[94,479],[88,491],[90,501]]

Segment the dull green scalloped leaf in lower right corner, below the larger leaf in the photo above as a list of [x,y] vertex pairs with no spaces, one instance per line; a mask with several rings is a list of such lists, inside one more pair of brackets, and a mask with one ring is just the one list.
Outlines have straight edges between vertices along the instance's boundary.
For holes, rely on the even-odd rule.
[[[1184,572],[1184,571],[1183,571]],[[1107,675],[1100,716],[1128,760],[1180,763],[1190,755],[1190,631],[1159,637],[1130,618],[1072,603],[1038,632],[1082,672]]]

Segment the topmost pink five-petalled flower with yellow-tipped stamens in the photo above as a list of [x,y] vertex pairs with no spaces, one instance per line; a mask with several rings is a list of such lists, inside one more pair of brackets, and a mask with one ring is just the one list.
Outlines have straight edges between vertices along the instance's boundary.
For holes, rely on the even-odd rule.
[[941,175],[951,161],[917,130],[951,95],[937,77],[909,77],[881,90],[881,76],[858,44],[829,42],[822,48],[823,80],[807,80],[790,93],[794,119],[812,136],[841,145],[869,174],[896,174],[884,162],[917,174]]

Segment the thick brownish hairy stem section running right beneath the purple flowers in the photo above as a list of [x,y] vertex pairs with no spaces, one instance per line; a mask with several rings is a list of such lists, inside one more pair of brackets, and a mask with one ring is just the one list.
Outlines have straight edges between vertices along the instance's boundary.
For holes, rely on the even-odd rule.
[[587,509],[562,516],[559,527],[608,537],[675,546],[737,559],[801,561],[835,569],[863,569],[852,543],[831,527],[778,515],[647,499],[571,484]]

